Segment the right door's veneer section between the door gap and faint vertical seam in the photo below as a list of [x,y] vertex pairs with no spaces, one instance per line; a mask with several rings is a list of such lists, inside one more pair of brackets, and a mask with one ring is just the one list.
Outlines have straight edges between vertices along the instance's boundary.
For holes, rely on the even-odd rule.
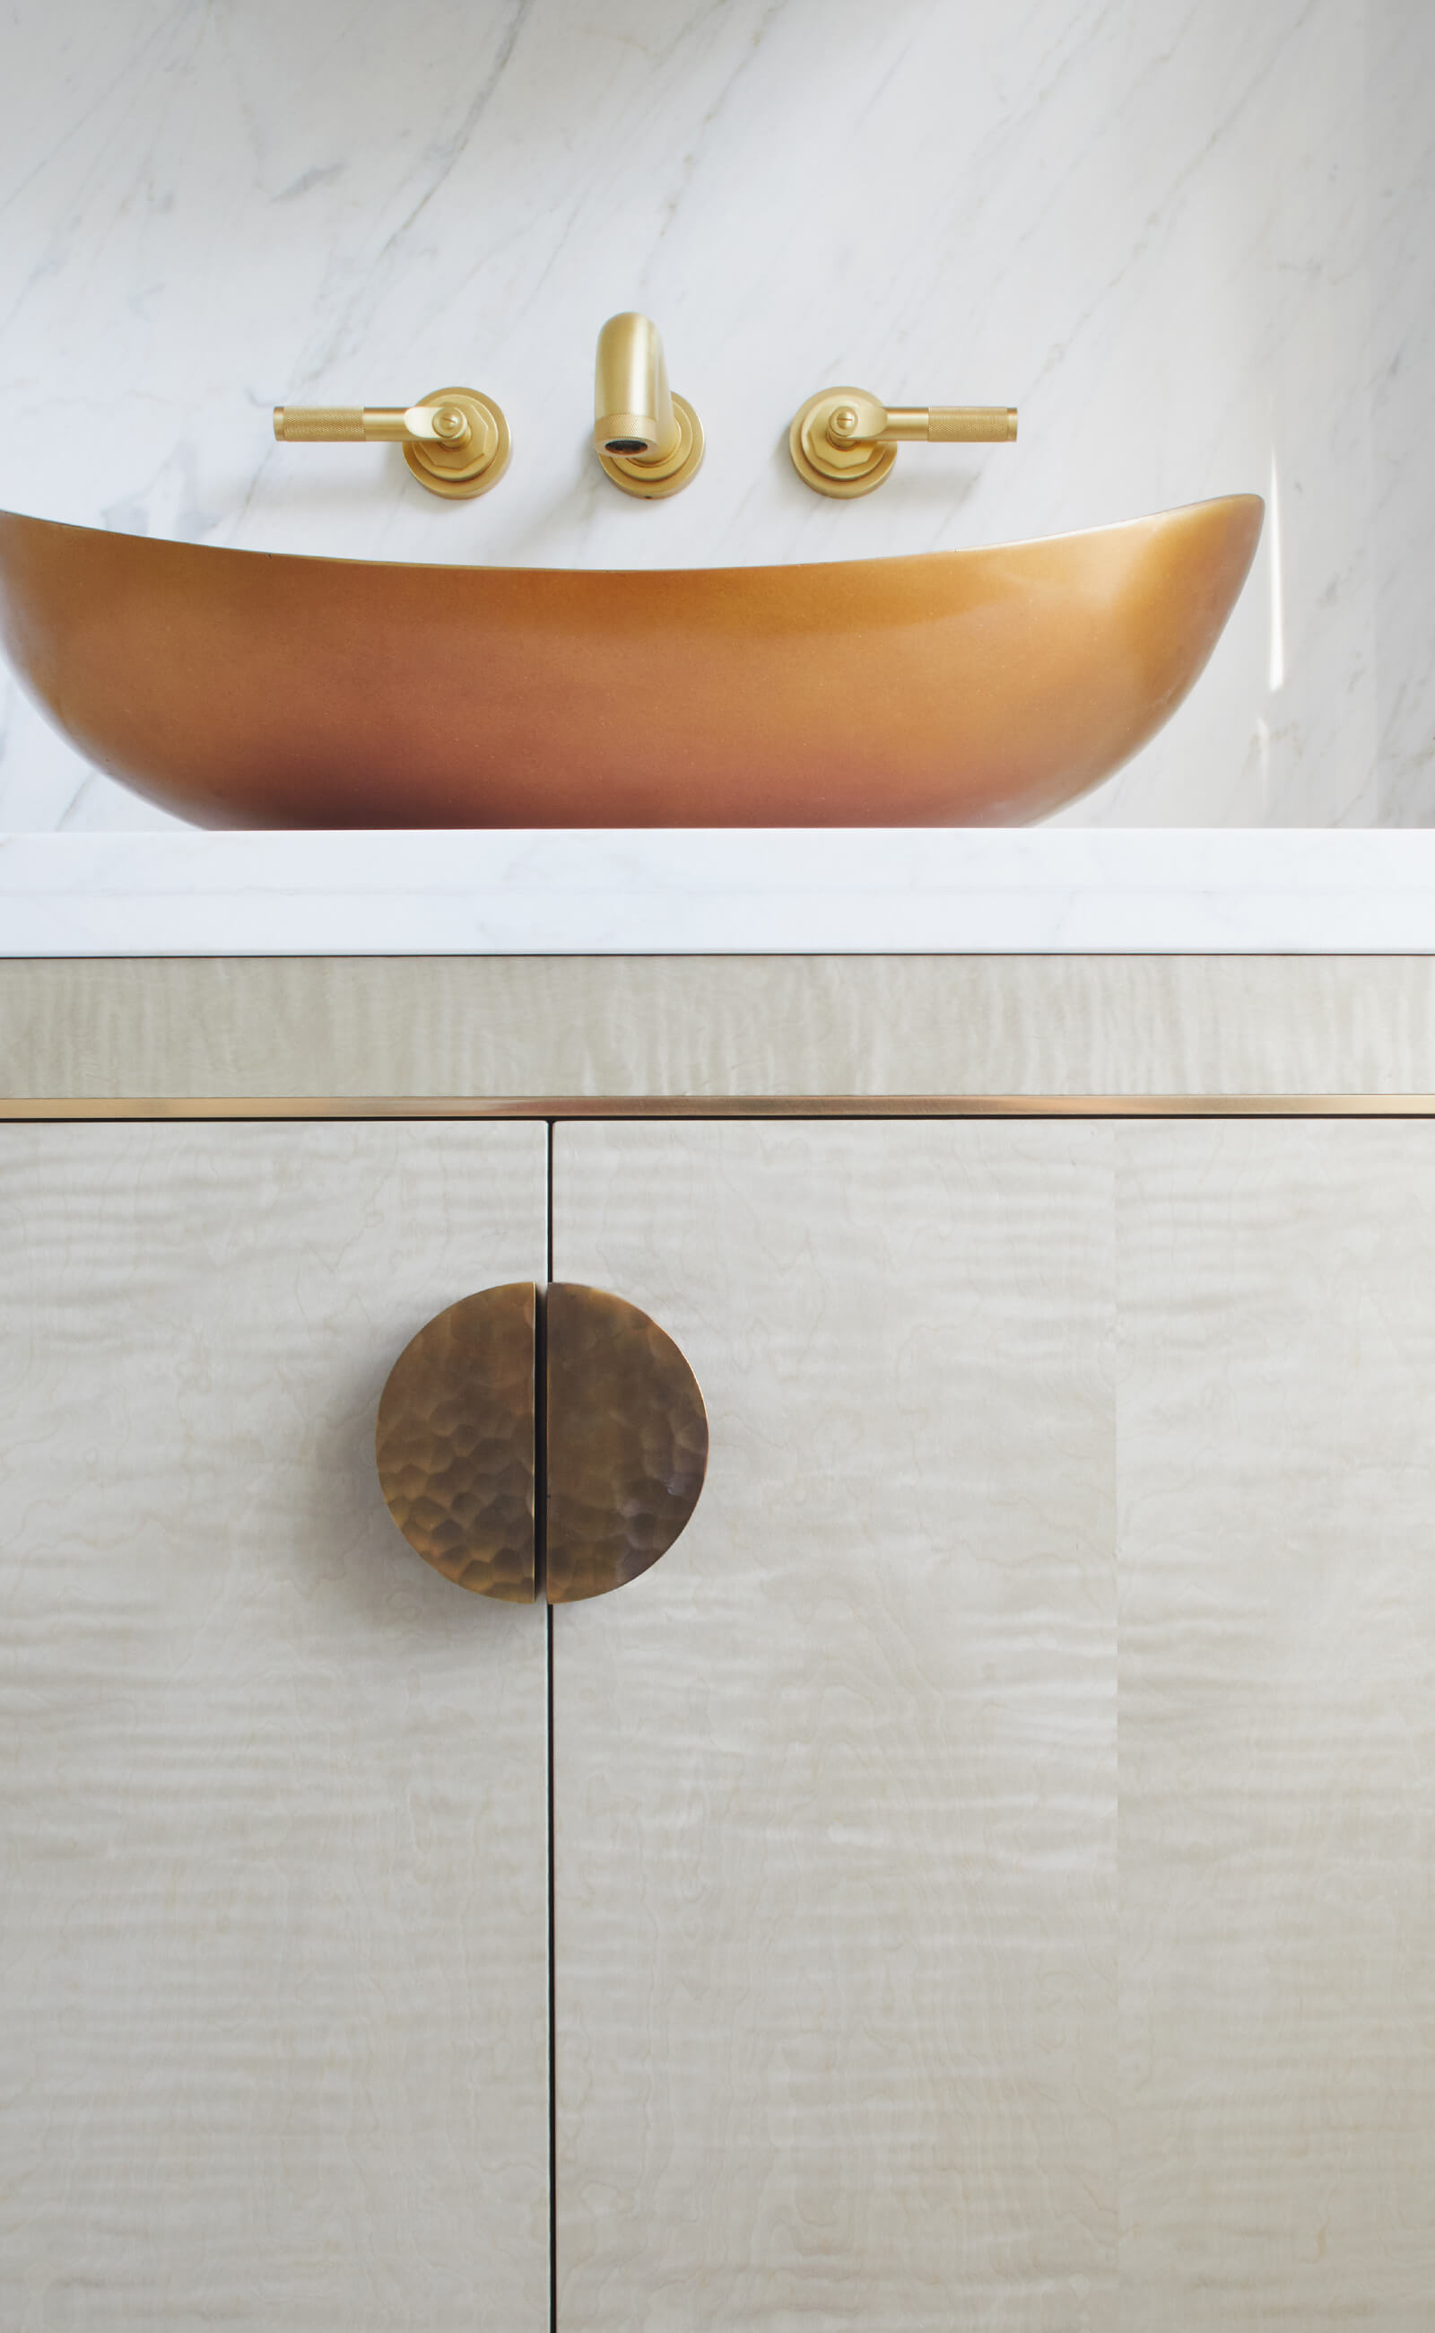
[[560,2328],[1113,2324],[1113,1132],[560,1127],[684,1537],[553,1614]]

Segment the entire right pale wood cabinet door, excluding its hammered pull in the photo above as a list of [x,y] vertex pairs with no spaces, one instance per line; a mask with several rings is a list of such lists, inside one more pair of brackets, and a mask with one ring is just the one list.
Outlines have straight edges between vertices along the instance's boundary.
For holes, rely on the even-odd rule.
[[553,1624],[560,2321],[1426,2333],[1433,1178],[558,1129],[558,1267],[712,1414]]

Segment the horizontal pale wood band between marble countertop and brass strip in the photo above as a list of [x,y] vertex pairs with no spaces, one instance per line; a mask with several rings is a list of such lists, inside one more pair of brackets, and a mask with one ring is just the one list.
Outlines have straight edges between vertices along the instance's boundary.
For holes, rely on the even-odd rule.
[[1433,1090],[1426,957],[0,964],[5,1094]]

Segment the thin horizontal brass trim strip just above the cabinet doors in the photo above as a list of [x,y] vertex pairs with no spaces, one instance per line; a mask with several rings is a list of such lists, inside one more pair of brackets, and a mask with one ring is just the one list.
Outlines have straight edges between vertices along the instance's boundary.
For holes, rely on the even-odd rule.
[[1435,1118],[1435,1094],[124,1094],[0,1097],[0,1122],[224,1118]]

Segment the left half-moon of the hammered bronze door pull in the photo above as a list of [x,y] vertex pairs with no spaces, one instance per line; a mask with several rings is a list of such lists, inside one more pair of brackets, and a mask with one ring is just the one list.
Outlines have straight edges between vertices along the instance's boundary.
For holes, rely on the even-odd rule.
[[408,1544],[446,1579],[502,1603],[537,1593],[534,1313],[532,1281],[436,1313],[390,1372],[373,1442]]

